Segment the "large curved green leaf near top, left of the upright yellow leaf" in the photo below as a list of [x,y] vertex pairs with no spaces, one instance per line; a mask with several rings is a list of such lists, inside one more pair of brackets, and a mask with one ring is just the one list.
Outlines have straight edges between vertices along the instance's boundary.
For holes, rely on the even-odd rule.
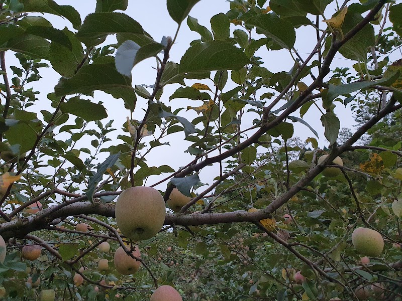
[[251,17],[246,25],[255,26],[257,33],[271,38],[281,48],[292,49],[296,41],[296,33],[293,26],[275,14],[264,14]]

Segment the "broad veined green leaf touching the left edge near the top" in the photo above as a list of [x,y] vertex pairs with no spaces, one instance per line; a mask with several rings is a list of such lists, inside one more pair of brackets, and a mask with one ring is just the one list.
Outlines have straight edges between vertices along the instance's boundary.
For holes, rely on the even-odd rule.
[[[1,30],[0,30],[1,33]],[[0,41],[2,38],[0,38]],[[41,37],[23,34],[0,45],[0,51],[13,50],[30,56],[33,59],[49,60],[50,43]]]

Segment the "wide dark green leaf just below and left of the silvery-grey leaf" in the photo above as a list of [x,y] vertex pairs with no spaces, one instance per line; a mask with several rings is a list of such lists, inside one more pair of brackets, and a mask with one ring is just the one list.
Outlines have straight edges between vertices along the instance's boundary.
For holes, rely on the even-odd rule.
[[91,64],[83,66],[71,78],[61,78],[54,91],[56,96],[63,96],[118,87],[131,87],[131,79],[117,72],[113,64]]

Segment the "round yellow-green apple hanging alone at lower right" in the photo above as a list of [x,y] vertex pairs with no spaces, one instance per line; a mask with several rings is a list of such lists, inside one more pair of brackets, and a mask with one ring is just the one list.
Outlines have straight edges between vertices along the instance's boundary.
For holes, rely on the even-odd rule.
[[356,228],[352,233],[352,243],[360,254],[377,257],[384,248],[384,240],[380,233],[368,228]]

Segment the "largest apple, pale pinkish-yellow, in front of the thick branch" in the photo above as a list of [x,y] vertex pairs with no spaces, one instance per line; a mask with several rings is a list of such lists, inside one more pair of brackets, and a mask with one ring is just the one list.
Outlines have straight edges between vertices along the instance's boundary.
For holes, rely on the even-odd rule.
[[154,237],[166,216],[165,201],[152,187],[124,190],[116,202],[116,223],[127,238],[138,241]]

